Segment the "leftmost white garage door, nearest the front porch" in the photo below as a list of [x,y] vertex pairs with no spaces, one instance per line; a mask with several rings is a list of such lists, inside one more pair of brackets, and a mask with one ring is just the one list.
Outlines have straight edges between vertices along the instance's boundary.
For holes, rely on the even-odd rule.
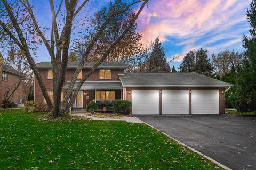
[[159,90],[132,90],[133,115],[159,115]]

